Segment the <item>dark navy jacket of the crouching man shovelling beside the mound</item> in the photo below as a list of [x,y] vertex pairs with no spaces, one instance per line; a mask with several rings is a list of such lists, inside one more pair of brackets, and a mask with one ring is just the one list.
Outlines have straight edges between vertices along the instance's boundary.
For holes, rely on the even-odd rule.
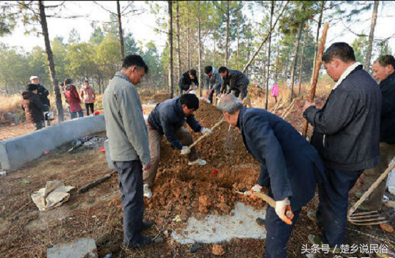
[[200,129],[202,129],[193,114],[189,117],[185,117],[183,107],[181,107],[180,97],[175,97],[157,104],[148,117],[150,126],[160,131],[162,134],[165,134],[170,144],[178,150],[183,149],[183,144],[177,139],[174,131],[183,127],[185,122],[189,124],[193,131],[199,132]]

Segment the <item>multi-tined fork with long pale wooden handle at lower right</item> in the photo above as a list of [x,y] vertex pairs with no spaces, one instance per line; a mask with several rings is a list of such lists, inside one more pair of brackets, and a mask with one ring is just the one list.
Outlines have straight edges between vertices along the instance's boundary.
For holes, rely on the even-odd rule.
[[349,209],[348,211],[348,219],[349,222],[352,222],[354,225],[379,225],[381,223],[386,222],[386,218],[383,216],[380,216],[378,210],[374,211],[369,211],[369,212],[364,212],[364,213],[355,213],[356,208],[361,205],[364,200],[379,186],[381,181],[386,178],[386,176],[391,172],[392,169],[395,167],[395,161],[392,162],[391,165],[384,171],[384,173],[381,174],[379,178],[371,185],[371,187],[364,193],[364,195],[361,196],[361,198],[352,206],[352,208]]

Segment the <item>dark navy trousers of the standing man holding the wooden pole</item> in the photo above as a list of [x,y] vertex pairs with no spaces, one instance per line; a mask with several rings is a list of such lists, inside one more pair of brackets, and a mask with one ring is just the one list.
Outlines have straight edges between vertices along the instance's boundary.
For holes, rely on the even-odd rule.
[[326,183],[319,183],[317,220],[324,226],[322,241],[339,248],[346,239],[349,190],[363,171],[337,171],[325,168]]

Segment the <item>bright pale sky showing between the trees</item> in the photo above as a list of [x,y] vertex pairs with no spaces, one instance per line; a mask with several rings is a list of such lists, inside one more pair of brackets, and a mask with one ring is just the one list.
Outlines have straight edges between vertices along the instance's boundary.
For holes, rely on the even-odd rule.
[[[48,1],[46,3],[49,3]],[[51,4],[53,2],[51,1]],[[54,2],[56,3],[56,2]],[[116,1],[98,1],[104,8],[116,13]],[[121,1],[121,9],[128,4],[127,1]],[[145,1],[135,1],[135,9],[145,9],[143,14],[133,16],[128,14],[123,18],[123,30],[124,32],[133,33],[133,37],[136,42],[140,41],[143,44],[153,41],[157,46],[158,50],[161,52],[165,47],[165,42],[167,36],[165,33],[156,33],[154,28],[157,28],[155,22],[158,16],[150,14],[149,6]],[[379,7],[379,18],[377,19],[376,29],[374,31],[375,39],[388,38],[395,34],[395,4],[387,4],[387,6]],[[140,11],[138,11],[140,12]],[[255,21],[262,21],[262,15],[256,13],[255,15],[250,14],[247,9],[244,10],[245,14],[249,18]],[[163,10],[160,14],[166,17],[167,8],[166,4],[163,3]],[[62,16],[81,16],[79,18],[48,18],[48,33],[51,40],[56,36],[62,36],[64,40],[68,41],[68,36],[73,28],[76,28],[79,35],[81,36],[81,41],[88,41],[93,28],[91,23],[96,22],[108,22],[110,16],[108,11],[103,10],[101,6],[94,4],[93,1],[67,1],[61,10]],[[352,31],[356,33],[369,33],[370,23],[371,23],[371,11],[367,11],[363,15],[359,16],[360,20],[357,23],[343,24],[342,22],[337,22],[329,27],[327,43],[329,46],[331,43],[344,41],[351,44],[352,41],[357,37],[354,33],[350,32],[349,27]],[[316,29],[313,29],[315,32]],[[16,27],[14,33],[11,36],[6,36],[0,38],[0,42],[6,43],[8,45],[19,45],[25,50],[30,51],[34,46],[39,45],[44,47],[43,38],[34,35],[25,35],[24,26],[19,24]],[[389,41],[389,45],[395,52],[395,38]]]

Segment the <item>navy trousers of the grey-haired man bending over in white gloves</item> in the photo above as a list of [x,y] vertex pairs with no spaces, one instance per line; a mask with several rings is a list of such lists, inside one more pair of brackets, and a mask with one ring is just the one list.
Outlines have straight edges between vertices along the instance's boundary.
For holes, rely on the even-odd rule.
[[275,208],[267,205],[266,209],[266,257],[267,258],[286,258],[287,242],[291,235],[292,229],[299,216],[299,210],[292,210],[294,218],[292,225],[286,224],[277,216]]

